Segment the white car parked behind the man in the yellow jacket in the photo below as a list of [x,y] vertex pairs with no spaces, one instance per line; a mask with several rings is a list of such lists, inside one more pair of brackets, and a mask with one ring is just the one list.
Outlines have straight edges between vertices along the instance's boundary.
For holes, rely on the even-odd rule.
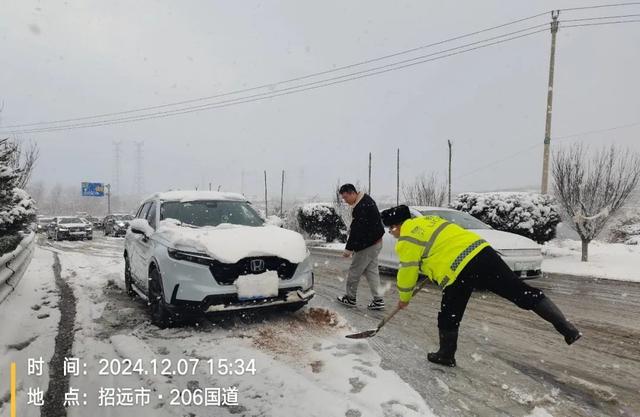
[[[411,207],[412,216],[438,216],[477,233],[500,254],[509,268],[521,278],[542,276],[541,246],[515,233],[494,230],[468,213],[441,207]],[[389,233],[383,238],[379,264],[383,268],[398,269],[395,252],[396,239]]]

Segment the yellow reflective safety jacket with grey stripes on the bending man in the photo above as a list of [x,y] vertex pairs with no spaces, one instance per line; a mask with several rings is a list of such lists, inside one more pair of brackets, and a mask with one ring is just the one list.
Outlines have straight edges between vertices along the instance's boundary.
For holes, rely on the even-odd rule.
[[411,300],[420,273],[443,288],[451,285],[467,263],[487,246],[477,234],[437,216],[406,220],[395,248],[400,258],[400,300]]

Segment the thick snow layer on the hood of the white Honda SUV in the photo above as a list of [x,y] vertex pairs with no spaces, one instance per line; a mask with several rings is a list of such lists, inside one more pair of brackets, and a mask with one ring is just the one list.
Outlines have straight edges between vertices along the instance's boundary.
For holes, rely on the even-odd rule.
[[301,234],[275,226],[239,226],[191,228],[163,220],[154,233],[172,248],[206,253],[224,263],[236,263],[251,256],[278,256],[300,263],[307,256]]

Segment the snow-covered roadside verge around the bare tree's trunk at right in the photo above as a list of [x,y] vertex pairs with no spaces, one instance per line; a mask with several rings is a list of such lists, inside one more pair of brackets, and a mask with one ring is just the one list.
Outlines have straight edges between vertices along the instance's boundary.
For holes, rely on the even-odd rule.
[[542,270],[550,273],[640,282],[640,246],[589,244],[589,262],[581,262],[582,242],[554,239],[542,247]]

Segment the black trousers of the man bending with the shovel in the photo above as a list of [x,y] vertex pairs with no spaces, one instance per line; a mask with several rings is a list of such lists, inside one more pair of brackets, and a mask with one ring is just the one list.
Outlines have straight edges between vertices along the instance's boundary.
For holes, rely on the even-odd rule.
[[480,251],[464,267],[453,284],[442,291],[438,328],[456,330],[474,289],[489,290],[524,310],[533,309],[544,294],[524,283],[491,247]]

